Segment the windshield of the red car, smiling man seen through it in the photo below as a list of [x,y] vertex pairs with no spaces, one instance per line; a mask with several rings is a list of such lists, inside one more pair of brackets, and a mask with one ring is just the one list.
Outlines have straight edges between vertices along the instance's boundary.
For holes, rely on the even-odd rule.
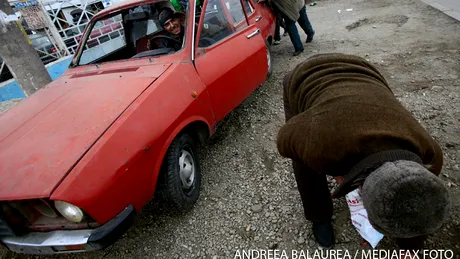
[[[168,19],[161,26],[160,15]],[[181,9],[182,10],[182,9]],[[186,9],[188,11],[188,8]],[[82,42],[78,65],[173,54],[183,48],[186,13],[169,1],[158,1],[121,10],[90,23]]]

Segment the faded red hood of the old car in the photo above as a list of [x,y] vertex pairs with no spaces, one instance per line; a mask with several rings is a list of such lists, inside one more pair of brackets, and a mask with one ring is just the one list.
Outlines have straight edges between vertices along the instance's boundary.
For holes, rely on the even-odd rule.
[[0,200],[49,197],[169,65],[66,73],[0,115]]

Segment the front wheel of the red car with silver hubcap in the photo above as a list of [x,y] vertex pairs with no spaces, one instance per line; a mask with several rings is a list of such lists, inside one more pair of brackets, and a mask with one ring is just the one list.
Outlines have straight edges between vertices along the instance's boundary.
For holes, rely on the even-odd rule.
[[167,207],[189,211],[200,196],[201,171],[199,149],[187,133],[179,134],[169,146],[162,172],[161,196]]

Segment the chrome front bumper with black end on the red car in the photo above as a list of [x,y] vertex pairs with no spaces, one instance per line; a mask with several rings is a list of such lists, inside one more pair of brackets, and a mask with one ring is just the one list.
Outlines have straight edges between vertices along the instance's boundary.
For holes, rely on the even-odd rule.
[[0,243],[13,252],[25,254],[99,250],[118,240],[134,224],[136,215],[136,210],[130,205],[95,229],[32,232],[24,236],[0,237]]

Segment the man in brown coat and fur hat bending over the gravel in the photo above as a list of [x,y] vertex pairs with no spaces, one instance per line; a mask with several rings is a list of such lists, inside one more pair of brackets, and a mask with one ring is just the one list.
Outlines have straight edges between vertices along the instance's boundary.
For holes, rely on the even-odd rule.
[[[420,249],[448,216],[443,154],[380,72],[360,57],[321,54],[290,71],[283,86],[277,147],[293,161],[318,243],[334,244],[331,198],[361,188],[372,226],[401,249]],[[326,175],[340,184],[332,195]]]

